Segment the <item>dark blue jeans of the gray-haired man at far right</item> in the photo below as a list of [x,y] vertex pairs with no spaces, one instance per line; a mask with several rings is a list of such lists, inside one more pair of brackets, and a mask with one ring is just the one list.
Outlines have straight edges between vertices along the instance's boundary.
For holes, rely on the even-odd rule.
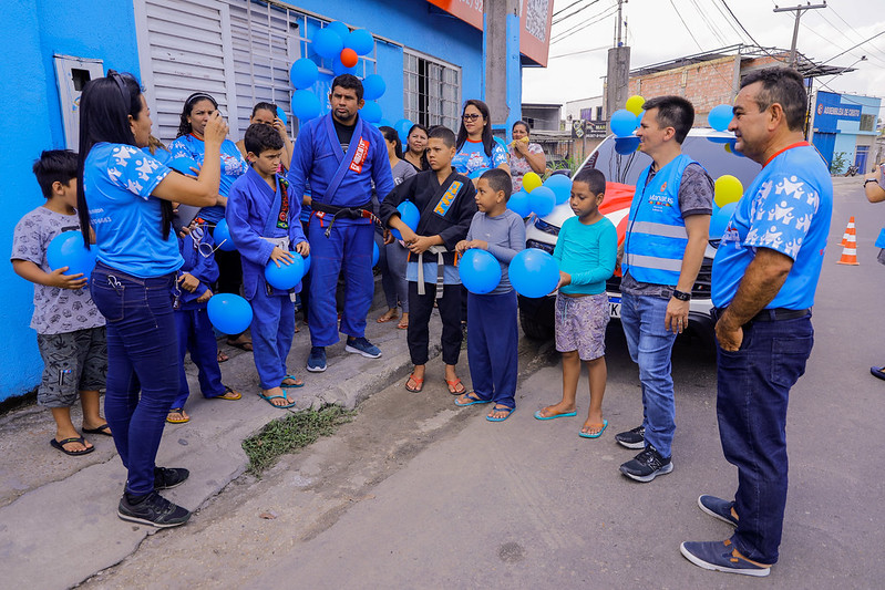
[[718,348],[722,452],[738,467],[731,538],[745,557],[778,561],[786,506],[786,403],[814,343],[811,317],[752,322],[740,350]]

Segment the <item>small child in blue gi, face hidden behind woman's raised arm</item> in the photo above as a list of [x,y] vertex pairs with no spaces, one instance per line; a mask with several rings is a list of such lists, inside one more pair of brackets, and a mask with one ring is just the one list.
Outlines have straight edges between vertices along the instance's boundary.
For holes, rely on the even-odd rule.
[[212,297],[209,284],[218,280],[218,265],[215,262],[212,235],[205,222],[194,220],[183,227],[178,235],[178,251],[184,265],[178,269],[178,278],[172,289],[172,309],[175,310],[175,325],[178,329],[178,348],[182,362],[178,365],[181,385],[178,397],[172,403],[166,415],[169,424],[184,424],[191,416],[184,411],[191,390],[184,372],[184,355],[199,370],[199,391],[207,400],[239,400],[238,392],[222,383],[222,369],[218,366],[218,344],[206,312],[206,302]]

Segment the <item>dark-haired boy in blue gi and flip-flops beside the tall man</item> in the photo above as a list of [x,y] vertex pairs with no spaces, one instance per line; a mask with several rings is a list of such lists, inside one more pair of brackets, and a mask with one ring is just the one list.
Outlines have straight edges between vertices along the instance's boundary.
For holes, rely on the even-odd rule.
[[[286,371],[295,337],[295,303],[289,291],[265,281],[265,267],[269,260],[277,266],[290,265],[291,247],[305,257],[310,252],[298,220],[301,190],[294,192],[277,175],[284,144],[274,127],[249,125],[244,143],[251,167],[230,187],[225,218],[243,256],[243,287],[253,308],[255,368],[261,382],[259,395],[272,406],[292,407],[295,402],[282,389],[303,385]],[[298,283],[295,292],[300,289]]]

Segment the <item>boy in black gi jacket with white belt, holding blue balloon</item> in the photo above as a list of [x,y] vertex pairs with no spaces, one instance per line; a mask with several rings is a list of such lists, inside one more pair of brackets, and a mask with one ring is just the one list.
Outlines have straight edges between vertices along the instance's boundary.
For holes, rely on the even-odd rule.
[[[455,372],[461,354],[462,296],[454,249],[466,237],[476,213],[473,200],[476,190],[470,178],[452,167],[455,134],[451,130],[435,127],[431,131],[426,154],[431,169],[407,178],[384,198],[381,220],[400,232],[410,252],[405,268],[409,281],[407,340],[415,368],[405,389],[413,393],[424,389],[430,315],[435,302],[443,323],[445,383],[452,395],[460,395],[466,389]],[[412,227],[405,222],[403,210],[398,208],[403,201],[411,201],[418,208],[418,221]]]

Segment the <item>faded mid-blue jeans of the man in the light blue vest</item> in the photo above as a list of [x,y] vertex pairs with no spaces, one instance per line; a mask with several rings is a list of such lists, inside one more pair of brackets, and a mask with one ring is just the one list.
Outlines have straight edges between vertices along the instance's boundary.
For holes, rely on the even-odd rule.
[[630,359],[639,365],[642,385],[642,426],[646,446],[662,457],[671,455],[676,432],[676,402],[670,353],[676,332],[663,327],[669,299],[622,293],[620,323],[627,337]]

